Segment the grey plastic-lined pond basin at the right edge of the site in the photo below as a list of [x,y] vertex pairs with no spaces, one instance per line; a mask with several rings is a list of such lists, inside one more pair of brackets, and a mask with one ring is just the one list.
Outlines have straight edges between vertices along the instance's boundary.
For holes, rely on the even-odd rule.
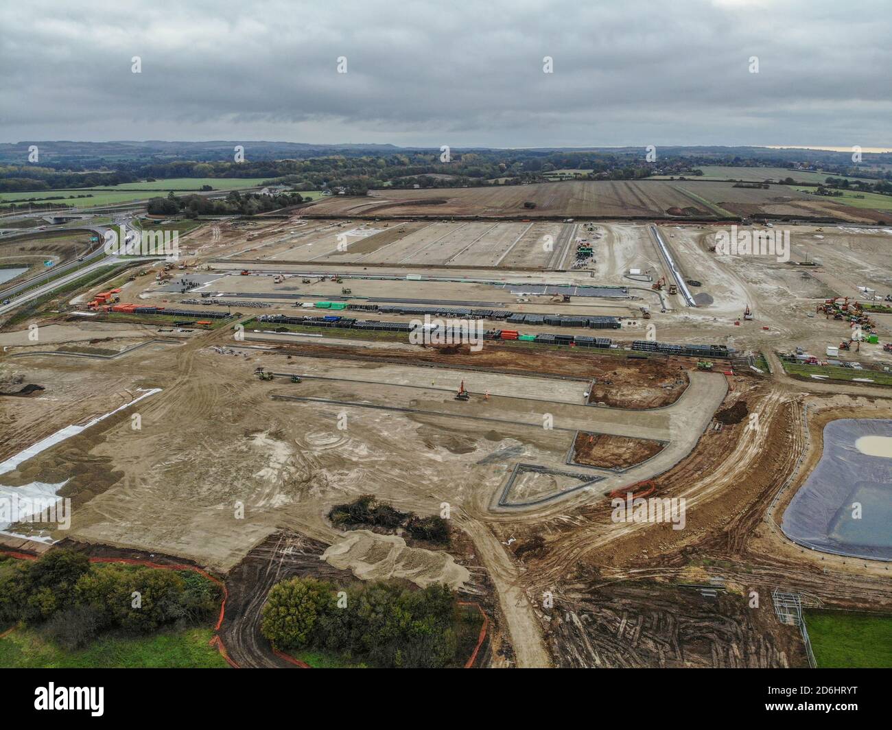
[[[892,560],[892,458],[860,452],[862,436],[892,438],[892,420],[839,419],[824,427],[823,453],[784,511],[781,529],[822,552]],[[853,504],[861,505],[860,519]]]

